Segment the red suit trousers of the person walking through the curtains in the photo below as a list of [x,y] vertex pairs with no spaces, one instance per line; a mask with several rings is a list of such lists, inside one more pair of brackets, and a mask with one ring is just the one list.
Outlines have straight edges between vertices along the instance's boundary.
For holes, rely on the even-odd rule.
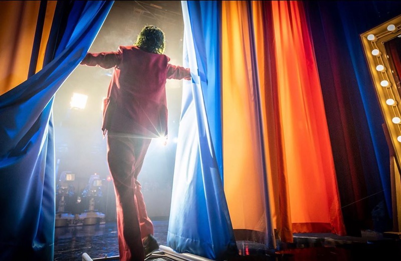
[[120,260],[143,261],[142,239],[153,234],[153,223],[137,180],[150,138],[107,135],[107,162],[113,177],[117,206]]

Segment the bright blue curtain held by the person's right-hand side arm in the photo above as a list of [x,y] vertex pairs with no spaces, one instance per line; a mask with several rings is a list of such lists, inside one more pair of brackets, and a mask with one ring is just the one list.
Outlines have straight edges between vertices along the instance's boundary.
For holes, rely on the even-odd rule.
[[220,2],[182,1],[183,83],[167,245],[214,260],[238,253],[222,180]]

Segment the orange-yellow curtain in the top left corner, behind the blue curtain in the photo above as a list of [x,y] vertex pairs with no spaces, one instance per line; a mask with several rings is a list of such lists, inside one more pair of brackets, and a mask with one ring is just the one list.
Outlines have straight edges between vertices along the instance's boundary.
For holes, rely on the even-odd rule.
[[[0,1],[0,95],[28,78],[41,1]],[[57,1],[47,1],[36,71],[42,69]]]

